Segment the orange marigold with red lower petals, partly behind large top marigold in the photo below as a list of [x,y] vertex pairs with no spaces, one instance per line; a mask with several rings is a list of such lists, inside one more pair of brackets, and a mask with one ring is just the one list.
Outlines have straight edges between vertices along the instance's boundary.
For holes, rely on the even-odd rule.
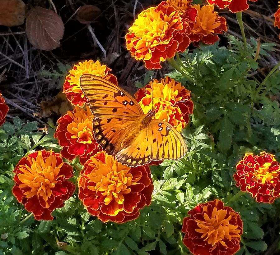
[[217,11],[214,11],[214,6],[204,5],[200,7],[199,4],[196,4],[194,8],[198,15],[190,39],[194,42],[201,40],[205,44],[214,44],[219,40],[217,34],[222,34],[223,31],[227,30],[226,19],[218,16]]

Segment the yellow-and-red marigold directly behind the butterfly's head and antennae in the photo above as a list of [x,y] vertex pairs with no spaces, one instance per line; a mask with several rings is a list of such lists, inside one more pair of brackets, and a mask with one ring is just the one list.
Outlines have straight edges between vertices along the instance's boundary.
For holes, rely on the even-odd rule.
[[168,76],[161,81],[151,81],[139,89],[135,97],[144,113],[153,108],[156,119],[169,122],[178,132],[189,123],[189,115],[194,109],[190,91]]

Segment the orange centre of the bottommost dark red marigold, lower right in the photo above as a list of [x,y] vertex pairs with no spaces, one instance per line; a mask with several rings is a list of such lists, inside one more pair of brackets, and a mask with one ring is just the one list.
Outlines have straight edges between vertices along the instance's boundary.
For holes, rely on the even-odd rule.
[[217,210],[217,207],[213,208],[211,218],[207,214],[207,206],[203,206],[203,221],[195,220],[198,225],[198,229],[195,231],[201,233],[201,238],[211,244],[214,250],[218,243],[222,244],[227,248],[224,239],[231,241],[234,237],[240,237],[240,230],[237,229],[238,225],[231,225],[229,221],[231,220],[231,214],[226,219],[227,210]]

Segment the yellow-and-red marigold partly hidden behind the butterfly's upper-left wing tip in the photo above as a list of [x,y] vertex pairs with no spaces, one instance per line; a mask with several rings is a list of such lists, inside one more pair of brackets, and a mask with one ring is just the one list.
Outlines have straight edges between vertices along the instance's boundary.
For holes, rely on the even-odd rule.
[[112,71],[109,67],[102,65],[98,60],[86,60],[74,65],[73,69],[65,78],[63,84],[63,93],[72,105],[84,107],[86,98],[80,86],[80,77],[83,74],[92,74],[100,76],[106,80],[110,80],[114,84],[118,84],[117,77],[109,72]]

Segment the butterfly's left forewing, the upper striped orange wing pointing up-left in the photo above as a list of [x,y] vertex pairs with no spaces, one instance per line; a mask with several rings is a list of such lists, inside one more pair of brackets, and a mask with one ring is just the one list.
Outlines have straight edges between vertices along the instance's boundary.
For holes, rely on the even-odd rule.
[[138,102],[109,80],[84,74],[80,77],[80,85],[96,117],[135,120],[143,115]]

